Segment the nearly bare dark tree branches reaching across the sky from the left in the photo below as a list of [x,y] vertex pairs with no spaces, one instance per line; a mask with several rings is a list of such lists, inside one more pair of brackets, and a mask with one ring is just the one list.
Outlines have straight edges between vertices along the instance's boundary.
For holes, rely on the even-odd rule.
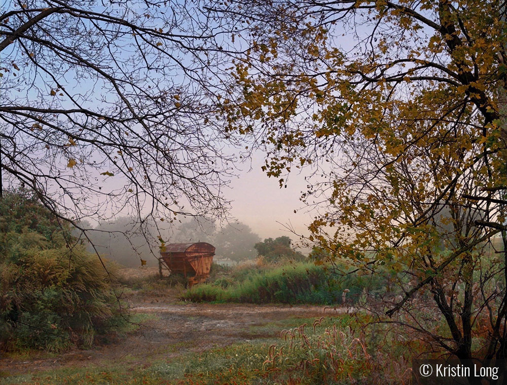
[[223,215],[234,142],[216,113],[220,30],[190,3],[5,2],[3,188],[33,190],[76,225]]

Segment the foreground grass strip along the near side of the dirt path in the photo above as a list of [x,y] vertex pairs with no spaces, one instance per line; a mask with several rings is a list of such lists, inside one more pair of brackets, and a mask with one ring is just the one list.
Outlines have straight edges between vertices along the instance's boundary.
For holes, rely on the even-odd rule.
[[[199,353],[146,361],[139,364],[128,357],[122,362],[101,366],[66,367],[37,374],[0,379],[14,384],[308,384],[369,383],[378,376],[379,365],[361,336],[354,331],[357,320],[344,315],[331,319],[280,320],[264,325],[270,331],[283,330],[278,337],[236,342]],[[398,360],[400,363],[400,360]],[[407,361],[399,370],[385,370],[383,383],[402,383]],[[384,367],[385,369],[385,367]],[[377,373],[377,374],[375,374]],[[385,377],[385,374],[388,374]]]

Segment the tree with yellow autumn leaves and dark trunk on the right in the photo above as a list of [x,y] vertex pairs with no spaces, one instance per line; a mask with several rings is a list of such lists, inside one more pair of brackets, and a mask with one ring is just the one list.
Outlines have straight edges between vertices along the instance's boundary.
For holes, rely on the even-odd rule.
[[[280,185],[317,170],[303,193],[321,212],[309,241],[408,277],[387,316],[412,321],[381,320],[460,359],[504,359],[505,3],[244,0],[210,12],[248,25],[252,46],[235,62],[243,92],[228,128],[257,134]],[[415,297],[433,310],[417,313]]]

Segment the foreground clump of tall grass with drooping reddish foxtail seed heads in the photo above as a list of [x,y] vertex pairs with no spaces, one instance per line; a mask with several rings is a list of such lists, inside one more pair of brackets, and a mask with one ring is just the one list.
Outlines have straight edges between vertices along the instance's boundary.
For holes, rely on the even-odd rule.
[[381,327],[388,341],[371,341],[369,347],[368,320],[367,315],[340,322],[321,317],[311,326],[282,330],[283,341],[269,347],[263,363],[266,377],[275,383],[308,385],[410,383],[411,346]]

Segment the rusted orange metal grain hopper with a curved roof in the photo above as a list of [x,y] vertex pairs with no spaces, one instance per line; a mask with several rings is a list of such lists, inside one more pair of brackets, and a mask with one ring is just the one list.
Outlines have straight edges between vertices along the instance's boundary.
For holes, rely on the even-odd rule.
[[189,286],[204,282],[209,276],[213,255],[215,247],[205,242],[164,245],[160,248],[160,274],[165,267],[171,274],[182,274]]

